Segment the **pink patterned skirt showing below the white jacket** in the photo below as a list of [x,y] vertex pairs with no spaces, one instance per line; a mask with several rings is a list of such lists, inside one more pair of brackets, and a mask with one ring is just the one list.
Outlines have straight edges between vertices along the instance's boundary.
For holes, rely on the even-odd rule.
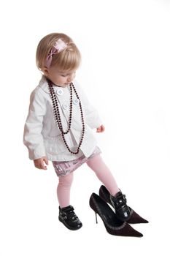
[[53,161],[53,167],[55,169],[55,173],[57,176],[65,176],[69,173],[72,173],[74,170],[76,170],[78,167],[80,167],[82,164],[88,161],[88,159],[95,157],[96,155],[100,154],[101,150],[100,148],[96,147],[93,153],[90,155],[90,157],[85,157],[84,155],[78,159],[74,159],[72,161],[64,161],[64,162],[58,162]]

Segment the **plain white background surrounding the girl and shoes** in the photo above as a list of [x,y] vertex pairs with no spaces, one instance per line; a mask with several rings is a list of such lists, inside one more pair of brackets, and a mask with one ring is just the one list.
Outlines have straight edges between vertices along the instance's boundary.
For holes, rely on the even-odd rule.
[[[169,255],[170,1],[5,1],[1,4],[0,255]],[[41,75],[39,40],[69,34],[82,53],[77,80],[98,108],[97,134],[120,189],[149,224],[143,238],[107,233],[88,205],[100,182],[83,165],[74,174],[77,231],[58,222],[58,178],[34,168],[23,146],[29,95]]]

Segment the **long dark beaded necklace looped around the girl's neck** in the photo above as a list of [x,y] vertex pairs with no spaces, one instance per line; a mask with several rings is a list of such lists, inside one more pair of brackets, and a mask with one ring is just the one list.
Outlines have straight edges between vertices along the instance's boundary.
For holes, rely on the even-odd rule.
[[[57,122],[58,124],[58,128],[60,129],[61,131],[61,136],[63,138],[63,143],[65,144],[66,148],[68,149],[68,151],[72,154],[78,154],[79,151],[80,151],[80,146],[82,145],[82,140],[84,138],[84,135],[85,135],[85,122],[84,122],[84,118],[83,118],[83,113],[82,113],[82,104],[80,102],[80,97],[78,96],[77,94],[77,91],[74,87],[74,84],[73,83],[70,83],[69,84],[69,88],[70,88],[70,106],[69,106],[69,127],[68,129],[66,129],[66,131],[64,132],[63,131],[63,125],[61,123],[61,114],[60,114],[60,110],[59,110],[59,107],[58,107],[58,100],[57,100],[57,97],[55,95],[55,91],[54,91],[54,88],[53,88],[53,83],[51,80],[48,80],[47,79],[47,83],[48,83],[48,88],[49,88],[49,91],[50,91],[50,97],[51,97],[51,100],[52,100],[52,103],[53,103],[53,113],[54,113],[54,117],[55,117],[55,121]],[[66,135],[70,129],[71,129],[71,126],[72,126],[72,93],[74,91],[74,94],[76,95],[77,99],[79,100],[79,107],[80,107],[80,113],[81,113],[81,121],[82,121],[82,135],[80,137],[80,143],[79,145],[77,146],[77,151],[72,151],[68,144],[66,143],[66,139],[64,137],[64,135]]]

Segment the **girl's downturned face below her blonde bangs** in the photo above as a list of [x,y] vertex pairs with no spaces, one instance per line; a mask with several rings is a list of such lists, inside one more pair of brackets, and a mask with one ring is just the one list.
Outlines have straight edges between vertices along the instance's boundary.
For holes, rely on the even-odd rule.
[[56,86],[66,87],[75,78],[76,70],[63,71],[55,66],[52,66],[44,70],[44,73],[48,79],[50,79]]

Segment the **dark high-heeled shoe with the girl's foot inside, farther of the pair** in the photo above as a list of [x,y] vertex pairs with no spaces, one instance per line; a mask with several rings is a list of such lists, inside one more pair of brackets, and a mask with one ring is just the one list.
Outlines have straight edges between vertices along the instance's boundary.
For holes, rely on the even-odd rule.
[[[107,188],[104,187],[104,185],[101,185],[99,189],[99,195],[105,202],[109,203],[112,206],[112,202],[110,200],[110,193],[107,190]],[[148,223],[147,219],[144,219],[141,216],[139,216],[139,214],[137,214],[131,207],[128,206],[128,208],[130,209],[130,216],[126,222],[130,224]]]

